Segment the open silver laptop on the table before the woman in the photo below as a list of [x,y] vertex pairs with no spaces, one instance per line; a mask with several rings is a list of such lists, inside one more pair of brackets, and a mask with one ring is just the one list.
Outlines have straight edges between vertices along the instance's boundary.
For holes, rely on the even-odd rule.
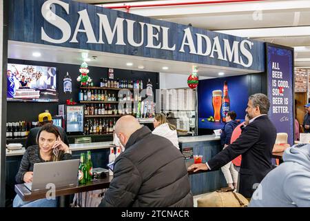
[[79,159],[34,164],[32,182],[25,183],[25,186],[30,191],[50,189],[48,184],[54,184],[56,188],[76,186],[79,164]]

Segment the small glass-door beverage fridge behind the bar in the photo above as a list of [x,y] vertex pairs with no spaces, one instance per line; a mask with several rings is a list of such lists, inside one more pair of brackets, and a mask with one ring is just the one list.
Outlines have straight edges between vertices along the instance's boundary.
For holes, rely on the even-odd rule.
[[61,104],[58,112],[65,120],[65,132],[72,135],[84,133],[84,105]]

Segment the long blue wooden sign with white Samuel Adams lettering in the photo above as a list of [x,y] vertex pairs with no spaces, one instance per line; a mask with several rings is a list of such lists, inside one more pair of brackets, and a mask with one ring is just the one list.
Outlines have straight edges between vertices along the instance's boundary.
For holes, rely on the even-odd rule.
[[76,1],[10,1],[9,39],[264,71],[264,45]]

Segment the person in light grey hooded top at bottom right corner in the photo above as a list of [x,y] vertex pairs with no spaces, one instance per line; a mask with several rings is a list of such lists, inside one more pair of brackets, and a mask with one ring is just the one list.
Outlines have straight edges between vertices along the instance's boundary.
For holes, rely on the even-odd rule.
[[310,144],[287,148],[283,161],[260,182],[249,207],[310,207]]

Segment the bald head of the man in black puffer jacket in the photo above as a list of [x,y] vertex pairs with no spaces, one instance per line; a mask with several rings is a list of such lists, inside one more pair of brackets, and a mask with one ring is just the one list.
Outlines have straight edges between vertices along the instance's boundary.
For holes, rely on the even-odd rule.
[[142,126],[132,115],[126,115],[118,119],[115,124],[115,133],[123,146],[126,146],[130,136]]

